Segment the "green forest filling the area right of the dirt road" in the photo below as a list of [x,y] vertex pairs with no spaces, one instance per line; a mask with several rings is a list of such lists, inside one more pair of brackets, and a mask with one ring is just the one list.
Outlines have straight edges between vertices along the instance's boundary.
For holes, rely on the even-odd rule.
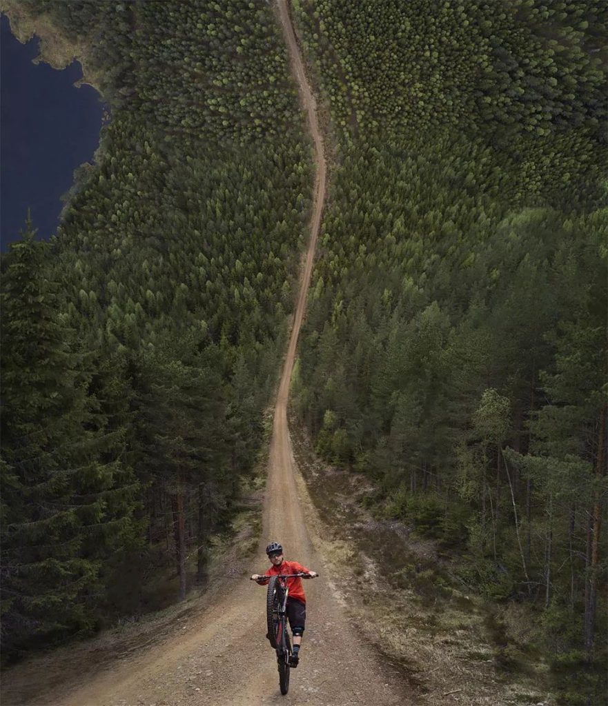
[[295,5],[337,136],[298,414],[600,703],[607,6]]

